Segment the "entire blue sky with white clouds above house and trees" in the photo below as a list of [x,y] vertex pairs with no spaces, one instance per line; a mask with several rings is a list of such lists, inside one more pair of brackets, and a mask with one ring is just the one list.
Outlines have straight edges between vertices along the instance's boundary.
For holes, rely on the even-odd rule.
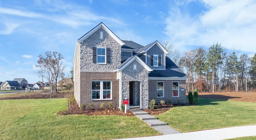
[[0,81],[41,81],[46,51],[62,53],[69,73],[76,41],[100,22],[141,45],[168,41],[182,53],[218,42],[252,56],[255,13],[255,0],[0,0]]

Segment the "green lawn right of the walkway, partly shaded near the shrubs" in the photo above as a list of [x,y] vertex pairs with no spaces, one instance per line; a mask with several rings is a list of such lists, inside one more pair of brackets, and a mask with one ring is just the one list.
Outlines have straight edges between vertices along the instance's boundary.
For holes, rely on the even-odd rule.
[[156,117],[180,132],[256,124],[256,103],[206,98],[199,103],[174,107]]

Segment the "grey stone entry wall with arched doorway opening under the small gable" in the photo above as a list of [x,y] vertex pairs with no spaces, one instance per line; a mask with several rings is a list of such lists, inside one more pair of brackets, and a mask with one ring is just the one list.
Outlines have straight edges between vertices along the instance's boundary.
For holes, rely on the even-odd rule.
[[[134,69],[136,64],[136,69]],[[148,109],[148,71],[136,60],[122,70],[122,99],[129,99],[129,82],[139,81],[141,91],[141,108]]]

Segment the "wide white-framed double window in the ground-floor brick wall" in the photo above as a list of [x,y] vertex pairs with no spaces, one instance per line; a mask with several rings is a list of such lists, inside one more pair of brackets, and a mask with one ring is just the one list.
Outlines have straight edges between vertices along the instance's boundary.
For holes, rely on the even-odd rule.
[[111,81],[92,81],[92,99],[111,99]]

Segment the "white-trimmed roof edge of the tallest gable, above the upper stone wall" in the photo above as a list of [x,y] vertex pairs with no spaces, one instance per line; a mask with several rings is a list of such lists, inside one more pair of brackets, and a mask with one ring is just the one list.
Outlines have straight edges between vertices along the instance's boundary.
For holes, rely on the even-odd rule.
[[93,29],[91,29],[88,33],[86,33],[85,35],[83,35],[82,37],[80,37],[80,39],[78,39],[78,42],[82,42],[85,39],[87,39],[90,35],[92,35],[93,33],[95,33],[98,29],[104,29],[111,37],[113,37],[120,45],[124,45],[124,43],[122,42],[121,39],[119,39],[119,37],[117,37],[110,29],[108,29],[108,27],[104,24],[104,23],[100,23],[98,24],[96,27],[94,27]]

